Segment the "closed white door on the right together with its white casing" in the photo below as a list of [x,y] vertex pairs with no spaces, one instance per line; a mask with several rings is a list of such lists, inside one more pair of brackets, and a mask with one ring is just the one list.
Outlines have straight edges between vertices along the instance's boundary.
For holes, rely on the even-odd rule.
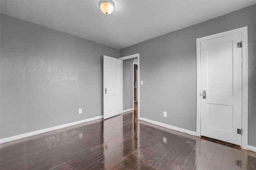
[[[241,41],[242,47],[237,48],[237,43]],[[196,134],[238,144],[247,149],[247,27],[198,38],[196,42]],[[206,99],[202,99],[204,90]],[[238,128],[242,128],[242,136],[237,134]]]

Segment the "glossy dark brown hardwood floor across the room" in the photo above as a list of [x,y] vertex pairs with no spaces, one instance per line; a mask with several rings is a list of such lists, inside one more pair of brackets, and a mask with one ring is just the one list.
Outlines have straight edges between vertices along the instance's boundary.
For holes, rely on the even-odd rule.
[[137,112],[0,145],[1,170],[256,170],[256,153],[137,120]]

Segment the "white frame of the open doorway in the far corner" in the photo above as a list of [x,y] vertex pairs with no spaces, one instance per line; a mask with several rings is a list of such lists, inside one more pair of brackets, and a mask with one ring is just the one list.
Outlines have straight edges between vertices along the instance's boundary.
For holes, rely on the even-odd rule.
[[[138,80],[138,91],[137,91],[137,94],[138,94],[138,119],[140,118],[140,53],[136,53],[136,54],[132,54],[132,55],[128,55],[128,56],[125,56],[125,57],[120,57],[119,59],[121,60],[126,60],[126,59],[132,59],[132,58],[138,58],[138,77],[137,77],[137,80]],[[134,68],[134,65],[133,65],[133,68]],[[121,76],[122,76],[122,82],[123,82],[123,62],[122,62],[122,65],[121,65]],[[133,86],[132,86],[133,88]],[[132,89],[133,91],[133,89]],[[134,92],[133,92],[134,93]],[[132,96],[134,97],[134,96]],[[132,101],[133,101],[134,98],[132,98]],[[134,101],[132,102],[132,106],[134,108]],[[122,111],[123,111],[123,87],[122,87]]]

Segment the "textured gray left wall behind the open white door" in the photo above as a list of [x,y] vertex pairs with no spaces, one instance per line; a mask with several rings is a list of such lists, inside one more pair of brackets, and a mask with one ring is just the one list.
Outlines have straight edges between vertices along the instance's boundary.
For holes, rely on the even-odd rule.
[[102,115],[103,55],[119,49],[5,14],[0,26],[0,138]]

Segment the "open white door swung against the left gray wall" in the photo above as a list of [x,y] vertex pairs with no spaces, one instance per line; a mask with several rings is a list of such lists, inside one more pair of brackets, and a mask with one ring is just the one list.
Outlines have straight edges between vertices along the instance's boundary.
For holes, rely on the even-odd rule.
[[103,118],[122,113],[122,60],[103,56]]

